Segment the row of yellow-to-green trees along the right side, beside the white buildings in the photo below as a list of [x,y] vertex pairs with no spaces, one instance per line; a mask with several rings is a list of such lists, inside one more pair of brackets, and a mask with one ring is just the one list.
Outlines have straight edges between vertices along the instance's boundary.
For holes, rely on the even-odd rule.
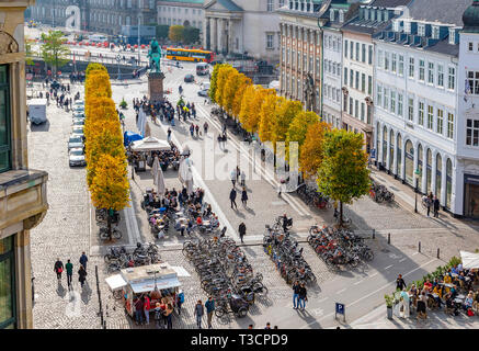
[[262,143],[271,141],[275,154],[277,143],[284,141],[286,160],[290,143],[297,143],[298,155],[292,156],[297,157],[299,170],[305,178],[316,179],[321,193],[340,203],[341,223],[342,204],[368,193],[367,155],[361,134],[332,129],[315,112],[304,111],[299,101],[254,86],[226,64],[213,70],[209,98],[244,129],[258,133]]

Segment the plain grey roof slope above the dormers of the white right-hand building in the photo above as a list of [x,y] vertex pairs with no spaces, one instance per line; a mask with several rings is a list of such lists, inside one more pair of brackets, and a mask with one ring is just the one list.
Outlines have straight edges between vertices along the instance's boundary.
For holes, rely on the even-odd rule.
[[417,21],[463,26],[463,13],[471,3],[472,0],[412,0],[409,15]]

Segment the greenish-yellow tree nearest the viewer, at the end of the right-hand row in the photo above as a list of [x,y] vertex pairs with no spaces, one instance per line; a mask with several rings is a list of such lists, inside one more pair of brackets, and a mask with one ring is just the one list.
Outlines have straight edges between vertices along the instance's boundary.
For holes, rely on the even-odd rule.
[[362,134],[343,129],[324,133],[317,183],[321,193],[339,201],[341,226],[343,203],[350,204],[369,191],[369,170],[363,144]]

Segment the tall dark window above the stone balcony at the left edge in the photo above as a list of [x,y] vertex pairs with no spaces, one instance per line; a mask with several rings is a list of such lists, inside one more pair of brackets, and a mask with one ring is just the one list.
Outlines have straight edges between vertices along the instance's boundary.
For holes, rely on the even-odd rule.
[[8,65],[0,66],[0,172],[11,168],[10,82]]

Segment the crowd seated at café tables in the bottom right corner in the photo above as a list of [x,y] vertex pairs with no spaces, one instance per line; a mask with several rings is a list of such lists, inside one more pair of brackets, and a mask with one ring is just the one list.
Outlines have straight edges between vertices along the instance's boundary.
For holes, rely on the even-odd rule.
[[[468,316],[474,316],[474,309],[477,310],[479,306],[479,292],[474,291],[472,284],[478,281],[478,272],[465,270],[458,264],[433,282],[427,279],[422,286],[412,284],[408,291],[402,275],[399,274],[396,280],[396,288],[400,293],[400,304],[396,306],[397,314],[408,318],[410,308],[415,307],[417,318],[425,319],[427,308],[441,309],[445,306],[446,313],[458,315],[459,308],[463,308]],[[461,292],[465,297],[458,301]]]

